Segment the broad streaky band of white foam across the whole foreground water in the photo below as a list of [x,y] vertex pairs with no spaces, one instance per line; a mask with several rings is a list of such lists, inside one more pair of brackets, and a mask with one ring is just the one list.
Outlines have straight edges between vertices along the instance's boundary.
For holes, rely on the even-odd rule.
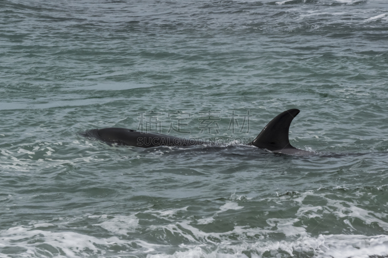
[[[333,186],[327,189],[333,189]],[[369,201],[375,200],[373,194],[360,191],[355,193],[349,191],[347,194],[349,196],[354,194],[354,197],[357,198],[367,195]],[[372,213],[357,201],[333,198],[332,196],[335,194],[342,195],[343,192],[335,190],[306,191],[303,193],[296,192],[292,196],[283,195],[282,197],[287,197],[284,199],[275,195],[257,199],[256,201],[271,203],[270,205],[272,203],[279,205],[287,203],[289,206],[299,207],[291,217],[283,218],[279,214],[278,218],[267,218],[265,221],[268,225],[264,224],[263,228],[249,225],[236,226],[232,220],[224,232],[222,232],[223,230],[211,231],[211,226],[208,224],[216,224],[218,219],[225,218],[224,215],[227,217],[227,214],[222,212],[244,208],[233,201],[227,201],[219,207],[218,211],[210,212],[210,214],[200,218],[194,215],[187,216],[188,207],[154,210],[150,206],[148,211],[129,215],[87,216],[88,219],[97,221],[94,222],[95,227],[100,227],[97,231],[104,231],[105,229],[108,232],[105,231],[103,235],[108,234],[114,237],[98,238],[95,237],[96,232],[93,236],[89,236],[87,233],[83,235],[72,232],[71,229],[63,232],[65,226],[66,228],[69,227],[69,220],[60,219],[61,223],[63,222],[60,227],[60,224],[56,223],[54,225],[52,221],[37,221],[28,226],[2,230],[0,231],[0,246],[26,249],[27,251],[23,254],[26,257],[42,257],[42,249],[45,248],[42,247],[42,243],[48,244],[53,247],[53,250],[58,251],[58,253],[54,252],[52,256],[59,256],[61,251],[65,253],[66,257],[111,257],[112,254],[106,252],[117,249],[115,247],[117,245],[120,246],[121,250],[134,250],[137,253],[147,254],[147,258],[246,258],[247,254],[250,254],[251,258],[261,258],[263,256],[315,258],[387,256],[387,235],[329,235],[324,233],[317,236],[310,232],[313,227],[307,227],[304,224],[306,219],[321,218],[317,221],[322,221],[325,218],[325,213],[331,213],[331,216],[337,218],[338,223],[343,223],[344,228],[350,230],[357,228],[354,226],[354,219],[357,219],[358,227],[363,223],[366,228],[373,227],[380,232],[388,231],[386,213]],[[309,201],[311,196],[324,199],[326,204],[324,206],[314,206]],[[139,213],[147,213],[147,215],[141,216]],[[149,218],[151,215],[153,217]],[[267,215],[268,212],[264,213],[264,216]],[[260,213],[258,213],[258,216],[261,216]],[[158,219],[155,219],[155,217]],[[74,218],[73,222],[83,219]],[[159,219],[162,219],[163,223],[160,223]],[[145,220],[146,223],[140,223],[140,220]],[[323,227],[323,223],[321,227]],[[142,225],[147,226],[142,228]],[[60,230],[55,227],[60,228]],[[145,231],[147,234],[155,234],[163,240],[164,244],[156,245],[147,243],[144,240],[129,240]],[[276,237],[274,238],[274,236]],[[179,248],[176,245],[171,246],[171,237],[174,238],[174,241],[185,244],[180,244]],[[274,239],[283,240],[275,241]],[[132,243],[136,243],[136,245],[131,245]],[[44,249],[44,252],[48,252],[47,248]],[[117,254],[117,256],[119,255]]]

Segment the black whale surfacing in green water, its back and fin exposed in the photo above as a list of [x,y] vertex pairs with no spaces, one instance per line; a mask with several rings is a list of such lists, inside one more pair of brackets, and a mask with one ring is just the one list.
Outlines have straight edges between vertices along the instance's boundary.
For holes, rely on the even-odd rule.
[[[277,115],[252,142],[247,145],[256,146],[260,149],[274,153],[291,155],[312,155],[314,152],[307,152],[296,149],[290,144],[289,129],[291,121],[299,114],[298,109],[289,109]],[[116,143],[141,148],[157,146],[191,146],[206,144],[203,139],[180,138],[169,135],[144,133],[127,128],[102,128],[87,131],[87,135],[93,136],[107,143]]]

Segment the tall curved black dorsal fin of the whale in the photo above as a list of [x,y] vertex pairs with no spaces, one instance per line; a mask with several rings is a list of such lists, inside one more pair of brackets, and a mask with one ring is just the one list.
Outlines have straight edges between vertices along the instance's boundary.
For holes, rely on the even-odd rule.
[[299,114],[299,109],[293,108],[277,115],[259,133],[249,145],[271,152],[281,152],[284,149],[295,149],[288,138],[291,121]]

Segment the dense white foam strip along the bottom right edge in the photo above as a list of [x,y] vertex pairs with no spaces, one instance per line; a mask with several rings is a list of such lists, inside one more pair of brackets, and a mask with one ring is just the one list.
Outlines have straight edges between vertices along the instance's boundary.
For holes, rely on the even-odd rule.
[[388,236],[319,235],[301,237],[295,241],[258,241],[234,245],[223,242],[215,250],[203,245],[181,247],[186,250],[173,255],[147,255],[147,258],[246,258],[244,253],[250,253],[252,258],[262,258],[264,253],[267,253],[265,257],[270,253],[270,257],[279,258],[301,253],[305,254],[303,257],[314,258],[369,258],[388,255]]

